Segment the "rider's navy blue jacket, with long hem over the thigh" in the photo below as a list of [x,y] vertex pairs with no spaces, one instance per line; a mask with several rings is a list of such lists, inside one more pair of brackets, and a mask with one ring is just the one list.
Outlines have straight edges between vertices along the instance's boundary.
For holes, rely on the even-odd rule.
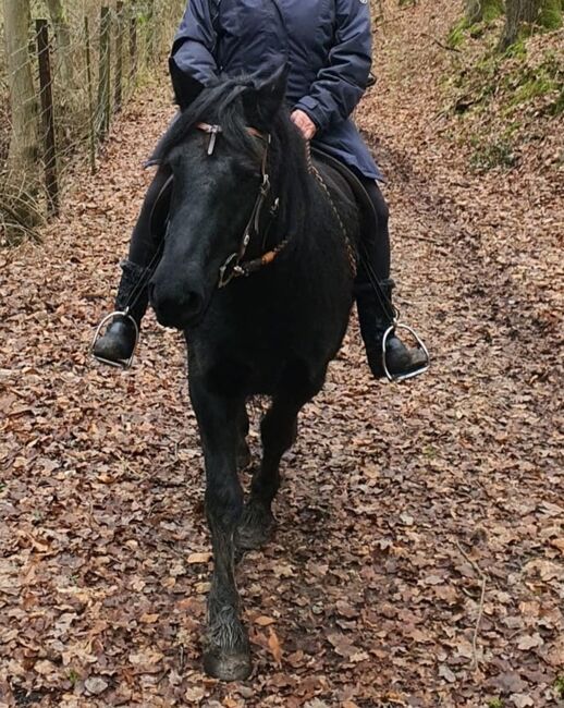
[[351,120],[371,65],[368,0],[189,0],[172,48],[176,74],[271,74],[289,63],[286,100],[316,123],[314,143],[381,179]]

